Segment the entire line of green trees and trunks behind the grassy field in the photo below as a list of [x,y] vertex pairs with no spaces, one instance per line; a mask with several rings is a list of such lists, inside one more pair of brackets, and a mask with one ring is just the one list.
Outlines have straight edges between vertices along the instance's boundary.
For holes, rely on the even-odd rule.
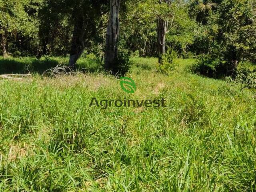
[[254,0],[1,0],[4,57],[86,54],[116,73],[132,55],[199,55],[206,75],[233,74],[256,61]]

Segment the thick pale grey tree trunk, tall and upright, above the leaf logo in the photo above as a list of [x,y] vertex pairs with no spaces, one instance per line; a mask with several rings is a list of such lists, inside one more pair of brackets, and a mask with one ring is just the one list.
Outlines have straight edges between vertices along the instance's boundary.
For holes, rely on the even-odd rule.
[[121,0],[110,0],[110,16],[106,34],[105,69],[116,73],[117,44],[120,32],[119,10]]

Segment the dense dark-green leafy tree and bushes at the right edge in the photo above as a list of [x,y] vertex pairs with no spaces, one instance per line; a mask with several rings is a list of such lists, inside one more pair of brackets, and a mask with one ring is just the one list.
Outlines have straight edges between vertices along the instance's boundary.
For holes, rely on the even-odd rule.
[[247,0],[225,0],[210,16],[201,38],[206,55],[199,68],[207,75],[233,75],[240,62],[256,61],[256,14]]

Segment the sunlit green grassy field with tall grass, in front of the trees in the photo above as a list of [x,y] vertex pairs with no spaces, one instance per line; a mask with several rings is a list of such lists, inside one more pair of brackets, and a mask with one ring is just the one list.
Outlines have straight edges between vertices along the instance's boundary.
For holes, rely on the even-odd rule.
[[[42,72],[67,61],[46,59],[8,63]],[[132,58],[134,94],[94,70],[0,80],[0,191],[256,191],[255,92],[192,74],[194,61],[165,75],[157,59]],[[100,69],[92,63],[78,66]],[[167,107],[89,107],[93,97]]]

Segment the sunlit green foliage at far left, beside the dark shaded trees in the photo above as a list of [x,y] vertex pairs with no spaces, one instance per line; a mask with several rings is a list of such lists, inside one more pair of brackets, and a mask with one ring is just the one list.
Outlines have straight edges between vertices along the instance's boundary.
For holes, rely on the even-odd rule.
[[38,12],[42,0],[1,0],[0,37],[1,51],[14,56],[36,55],[38,52]]

